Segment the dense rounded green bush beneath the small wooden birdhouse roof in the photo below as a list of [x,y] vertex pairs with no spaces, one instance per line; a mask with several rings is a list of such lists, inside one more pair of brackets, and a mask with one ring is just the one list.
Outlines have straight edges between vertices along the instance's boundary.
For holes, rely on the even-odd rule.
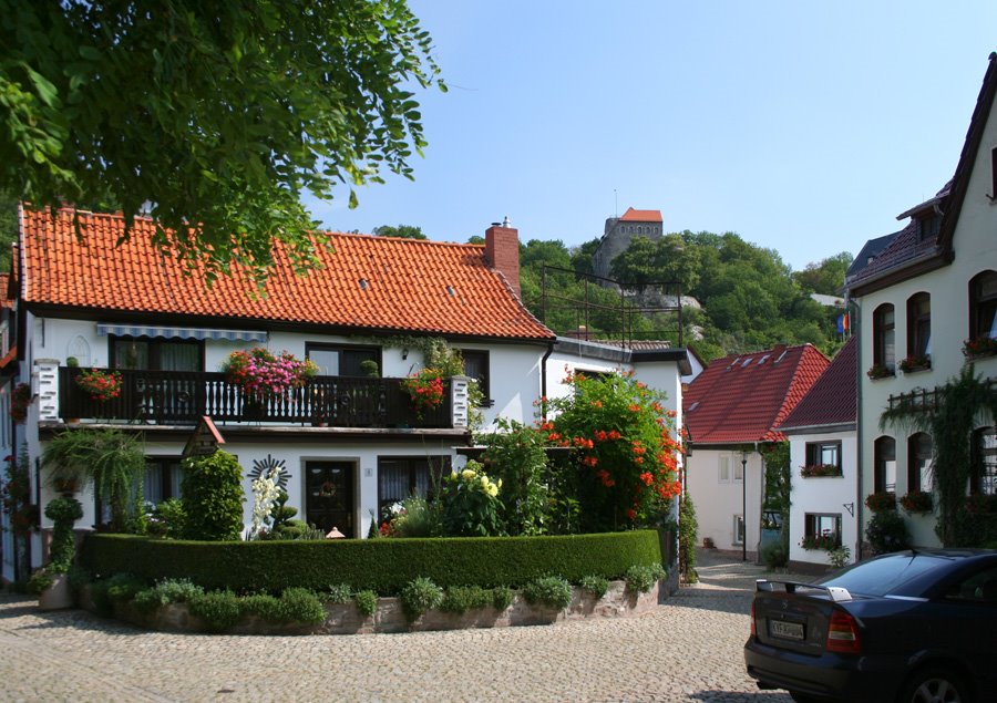
[[189,539],[239,539],[243,469],[232,454],[218,449],[210,456],[184,459],[182,493]]

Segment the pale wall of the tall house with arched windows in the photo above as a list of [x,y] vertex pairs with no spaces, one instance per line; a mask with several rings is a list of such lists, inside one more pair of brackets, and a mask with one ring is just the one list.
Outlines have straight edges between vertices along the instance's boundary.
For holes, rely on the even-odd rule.
[[[984,132],[980,148],[976,155],[969,178],[966,199],[957,223],[953,250],[955,258],[949,266],[902,281],[888,288],[863,296],[861,306],[861,427],[862,442],[862,495],[873,492],[874,465],[873,446],[881,435],[893,436],[896,441],[897,497],[907,493],[907,437],[909,433],[897,427],[878,427],[880,414],[888,405],[891,394],[906,393],[914,389],[933,389],[944,385],[957,375],[964,364],[963,340],[969,335],[968,281],[980,271],[997,270],[997,200],[991,175],[991,151],[997,147],[997,110],[991,110]],[[864,371],[873,363],[873,311],[883,302],[894,306],[896,317],[897,360],[906,355],[906,301],[916,292],[925,291],[932,297],[932,369],[905,374],[897,371],[895,378],[871,381]],[[990,356],[975,362],[976,374],[997,378],[997,358]],[[993,421],[979,418],[978,426]],[[863,507],[863,529],[871,515]],[[911,529],[916,546],[937,546],[939,540],[934,531],[935,516],[907,516],[902,513]]]

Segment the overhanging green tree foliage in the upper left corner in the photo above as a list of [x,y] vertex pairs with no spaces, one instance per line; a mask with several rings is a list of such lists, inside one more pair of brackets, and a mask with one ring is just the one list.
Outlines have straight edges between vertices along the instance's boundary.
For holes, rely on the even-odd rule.
[[[315,261],[310,192],[411,177],[411,86],[436,83],[405,0],[14,0],[0,13],[0,188],[37,206],[143,204],[155,244],[263,280]],[[126,230],[126,237],[131,229]]]

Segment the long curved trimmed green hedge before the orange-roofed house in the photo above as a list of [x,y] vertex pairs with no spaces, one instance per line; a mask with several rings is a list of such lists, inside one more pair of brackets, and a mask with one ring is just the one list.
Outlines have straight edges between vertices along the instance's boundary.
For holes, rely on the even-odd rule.
[[520,588],[556,573],[623,577],[636,565],[661,562],[654,530],[553,537],[336,539],[323,541],[181,541],[134,535],[86,536],[81,562],[93,575],[129,572],[148,582],[189,579],[205,589],[279,593],[348,583],[394,595],[415,578],[442,588]]

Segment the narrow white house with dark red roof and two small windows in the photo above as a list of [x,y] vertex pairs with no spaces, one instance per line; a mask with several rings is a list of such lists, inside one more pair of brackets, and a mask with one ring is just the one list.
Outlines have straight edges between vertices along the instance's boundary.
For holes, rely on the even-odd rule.
[[790,443],[791,566],[830,564],[819,539],[859,554],[857,349],[853,337],[779,425]]

